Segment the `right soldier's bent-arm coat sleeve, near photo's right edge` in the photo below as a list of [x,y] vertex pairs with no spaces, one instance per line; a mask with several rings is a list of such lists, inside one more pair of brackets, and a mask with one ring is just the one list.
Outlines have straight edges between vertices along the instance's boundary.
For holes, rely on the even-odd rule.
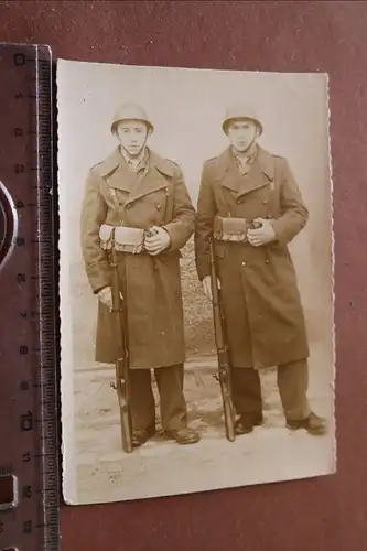
[[280,244],[287,245],[306,225],[309,210],[291,168],[285,159],[280,168],[280,208],[281,216],[272,220],[272,227]]

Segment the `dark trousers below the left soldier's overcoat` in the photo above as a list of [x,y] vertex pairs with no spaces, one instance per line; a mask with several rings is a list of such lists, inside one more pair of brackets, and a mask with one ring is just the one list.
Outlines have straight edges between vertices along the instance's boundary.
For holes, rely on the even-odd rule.
[[[160,397],[163,430],[180,430],[186,426],[187,408],[183,393],[183,364],[154,369]],[[155,425],[155,401],[150,369],[131,369],[130,404],[132,429]]]

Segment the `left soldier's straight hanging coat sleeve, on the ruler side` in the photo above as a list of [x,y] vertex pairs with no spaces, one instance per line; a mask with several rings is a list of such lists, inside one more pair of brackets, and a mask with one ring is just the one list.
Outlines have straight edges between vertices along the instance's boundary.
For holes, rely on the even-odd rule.
[[110,284],[107,253],[99,245],[99,228],[107,214],[107,205],[99,191],[99,179],[93,170],[87,176],[80,219],[85,271],[94,293]]

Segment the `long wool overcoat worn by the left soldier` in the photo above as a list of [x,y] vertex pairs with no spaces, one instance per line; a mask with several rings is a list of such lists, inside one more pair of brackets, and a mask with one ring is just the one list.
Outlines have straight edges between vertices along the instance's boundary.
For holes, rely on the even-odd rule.
[[[149,151],[134,173],[117,148],[88,174],[82,208],[82,247],[93,292],[109,285],[108,255],[100,247],[101,224],[149,229],[162,226],[170,248],[152,257],[119,253],[129,331],[130,368],[158,368],[184,361],[180,249],[194,233],[195,209],[181,169]],[[114,363],[117,348],[111,314],[99,303],[95,358]]]

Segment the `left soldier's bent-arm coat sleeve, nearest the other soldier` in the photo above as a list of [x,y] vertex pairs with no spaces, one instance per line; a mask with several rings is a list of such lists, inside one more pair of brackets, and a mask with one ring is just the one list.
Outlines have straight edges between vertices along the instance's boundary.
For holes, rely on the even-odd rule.
[[172,220],[163,225],[171,238],[168,251],[179,250],[188,241],[195,229],[196,212],[192,204],[183,173],[175,168],[172,197]]

